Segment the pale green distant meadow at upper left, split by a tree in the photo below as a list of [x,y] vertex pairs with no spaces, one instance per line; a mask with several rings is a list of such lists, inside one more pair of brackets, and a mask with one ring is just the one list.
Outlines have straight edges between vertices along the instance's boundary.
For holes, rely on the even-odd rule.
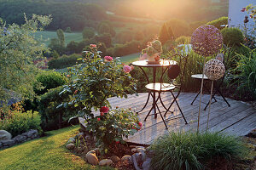
[[[64,35],[66,44],[71,41],[81,42],[83,40],[82,32],[64,32]],[[50,39],[55,37],[57,37],[56,31],[38,31],[35,33],[35,38],[45,43],[47,46],[49,45]]]

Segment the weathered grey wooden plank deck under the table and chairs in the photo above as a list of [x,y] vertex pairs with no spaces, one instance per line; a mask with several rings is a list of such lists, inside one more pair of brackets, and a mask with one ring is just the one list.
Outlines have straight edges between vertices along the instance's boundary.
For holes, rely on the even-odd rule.
[[[172,100],[171,94],[166,93],[162,94],[162,99],[164,104],[170,105]],[[139,94],[131,95],[127,99],[120,98],[110,98],[108,101],[115,108],[119,106],[121,108],[132,108],[134,111],[139,111],[143,108],[145,101],[148,97],[148,94]],[[164,122],[160,115],[154,119],[154,116],[148,116],[146,122],[144,122],[145,116],[148,114],[148,111],[151,108],[151,100],[149,100],[147,107],[138,114],[139,119],[143,122],[143,128],[135,133],[133,136],[130,136],[127,141],[135,142],[139,144],[151,144],[154,139],[160,135],[168,132],[177,132],[177,131],[196,131],[197,129],[197,117],[199,111],[199,101],[195,100],[194,105],[190,105],[191,101],[194,99],[195,94],[192,93],[182,93],[178,98],[178,103],[183,111],[184,116],[187,119],[188,124],[185,124],[183,118],[168,120],[171,116],[178,116],[180,112],[177,109],[177,105],[172,105],[172,113],[168,113],[165,117],[168,130],[165,127]],[[198,97],[199,99],[199,97]],[[209,101],[210,96],[204,94],[202,96],[201,104],[201,122],[200,122],[200,131],[207,130],[207,111],[202,111],[206,103]],[[221,133],[230,133],[237,136],[246,135],[251,130],[256,128],[256,110],[247,103],[236,101],[233,99],[227,99],[230,103],[230,107],[224,102],[221,97],[216,96],[218,102],[212,103],[211,113],[210,113],[210,122],[209,122],[209,131],[211,132],[221,132]],[[165,111],[164,107],[160,105],[160,111]]]

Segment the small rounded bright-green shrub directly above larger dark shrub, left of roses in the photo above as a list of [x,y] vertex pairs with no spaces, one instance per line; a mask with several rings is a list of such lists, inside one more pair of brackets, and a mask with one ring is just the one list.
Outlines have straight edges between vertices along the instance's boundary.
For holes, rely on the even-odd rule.
[[61,73],[56,71],[43,71],[36,77],[36,80],[44,87],[43,89],[34,88],[34,92],[38,95],[46,93],[50,88],[62,86],[67,81]]

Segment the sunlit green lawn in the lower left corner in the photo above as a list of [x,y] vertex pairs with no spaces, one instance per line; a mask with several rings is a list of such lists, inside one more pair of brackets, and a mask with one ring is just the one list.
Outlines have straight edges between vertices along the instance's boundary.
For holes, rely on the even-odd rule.
[[78,129],[76,126],[50,131],[46,137],[0,150],[0,169],[113,169],[90,166],[65,148],[67,139],[73,137]]

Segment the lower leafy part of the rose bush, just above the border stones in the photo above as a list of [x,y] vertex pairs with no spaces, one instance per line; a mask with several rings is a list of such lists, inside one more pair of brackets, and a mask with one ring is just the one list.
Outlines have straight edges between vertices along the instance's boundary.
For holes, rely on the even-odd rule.
[[105,144],[101,148],[108,148],[108,145],[113,143],[124,144],[123,137],[128,138],[129,135],[133,135],[141,126],[136,113],[131,110],[116,109],[88,120],[86,129],[96,135],[97,145]]

